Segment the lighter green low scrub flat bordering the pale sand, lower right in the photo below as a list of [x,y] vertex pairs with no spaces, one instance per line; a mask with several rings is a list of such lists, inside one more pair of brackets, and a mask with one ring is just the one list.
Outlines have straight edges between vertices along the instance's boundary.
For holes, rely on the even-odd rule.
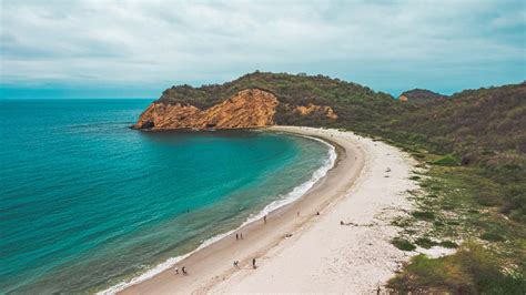
[[[423,162],[439,157],[427,154]],[[402,227],[395,240],[422,248],[456,248],[456,241],[471,242],[454,255],[414,257],[388,287],[402,293],[525,294],[526,228],[520,218],[504,215],[498,204],[487,204],[486,199],[498,200],[494,196],[500,186],[482,171],[475,165],[432,164],[416,172],[425,175],[416,180],[421,190],[409,192],[416,208],[393,223]]]

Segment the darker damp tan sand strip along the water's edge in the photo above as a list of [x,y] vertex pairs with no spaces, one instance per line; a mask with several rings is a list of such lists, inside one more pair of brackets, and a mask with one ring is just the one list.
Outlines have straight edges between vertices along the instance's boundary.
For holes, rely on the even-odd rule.
[[[355,149],[356,146],[343,146],[342,143],[344,142],[338,142],[337,139],[325,135],[321,131],[323,130],[294,126],[272,126],[263,130],[263,132],[291,133],[296,136],[313,138],[313,140],[323,141],[325,144],[334,146],[337,154],[333,167],[303,195],[267,214],[267,225],[263,224],[262,215],[260,218],[242,225],[241,228],[220,235],[218,240],[182,256],[170,268],[142,282],[125,286],[123,289],[117,289],[117,293],[205,292],[218,281],[226,278],[236,269],[233,267],[234,260],[240,261],[240,267],[249,267],[252,257],[263,255],[283,240],[286,240],[285,235],[296,233],[312,218],[317,217],[316,213],[326,207],[335,197],[341,196],[338,190],[347,190],[348,184],[354,182],[363,167],[363,157],[358,159],[357,156],[360,149]],[[350,156],[348,153],[356,154],[356,159],[354,159],[355,156]],[[342,172],[348,172],[350,167],[354,170],[353,173],[348,173],[347,177],[345,177],[350,181],[342,181],[338,176],[343,174]],[[338,169],[341,171],[337,171]],[[338,185],[334,187],[333,185],[327,185],[327,182],[328,184],[336,183]],[[332,191],[328,195],[327,192],[324,192],[327,189]],[[325,197],[315,197],[317,193],[322,193]],[[300,216],[297,216],[297,212],[300,212]],[[235,233],[240,232],[243,233],[244,238],[235,241]],[[179,269],[182,266],[186,266],[189,275],[175,275],[173,272],[174,266],[179,267]],[[108,288],[102,291],[101,294],[113,292],[115,289]]]

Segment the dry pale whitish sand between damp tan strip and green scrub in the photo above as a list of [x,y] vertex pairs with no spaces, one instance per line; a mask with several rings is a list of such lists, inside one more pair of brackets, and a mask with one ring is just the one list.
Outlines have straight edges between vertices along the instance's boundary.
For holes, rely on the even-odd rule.
[[352,132],[318,132],[362,152],[357,180],[297,235],[264,253],[257,269],[240,269],[209,293],[388,294],[385,283],[416,254],[396,248],[391,240],[401,231],[392,222],[413,208],[407,191],[418,187],[409,179],[417,162]]

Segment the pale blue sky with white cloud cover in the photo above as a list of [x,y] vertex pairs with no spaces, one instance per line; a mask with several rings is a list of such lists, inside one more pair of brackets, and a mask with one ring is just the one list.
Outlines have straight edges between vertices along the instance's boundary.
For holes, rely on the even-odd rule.
[[526,1],[0,0],[0,98],[158,98],[255,70],[398,95],[526,79]]

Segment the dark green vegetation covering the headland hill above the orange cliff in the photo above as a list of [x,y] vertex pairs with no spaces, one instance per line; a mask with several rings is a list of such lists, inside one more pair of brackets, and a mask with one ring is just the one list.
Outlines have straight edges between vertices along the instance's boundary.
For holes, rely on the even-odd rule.
[[[166,89],[159,102],[192,104],[200,109],[222,102],[241,90],[256,88],[272,92],[281,104],[276,110],[277,124],[311,126],[360,125],[366,129],[370,122],[399,112],[403,104],[387,93],[324,75],[293,75],[286,73],[254,72],[224,84],[192,88],[179,85]],[[285,109],[286,104],[331,105],[340,120],[332,121],[322,115],[299,116]]]

